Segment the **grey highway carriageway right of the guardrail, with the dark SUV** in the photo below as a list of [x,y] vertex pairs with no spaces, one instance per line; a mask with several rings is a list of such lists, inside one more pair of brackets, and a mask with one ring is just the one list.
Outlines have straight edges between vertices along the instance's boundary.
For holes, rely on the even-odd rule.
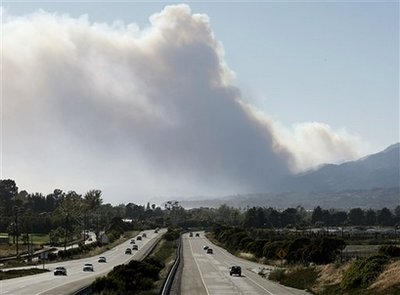
[[[182,295],[224,295],[224,294],[268,294],[293,295],[309,294],[282,286],[258,275],[266,265],[240,259],[231,255],[223,248],[212,244],[203,232],[200,236],[189,237],[184,234],[183,269],[181,275],[180,294]],[[207,254],[204,246],[213,249],[213,254]],[[242,268],[242,275],[230,276],[232,265]]]

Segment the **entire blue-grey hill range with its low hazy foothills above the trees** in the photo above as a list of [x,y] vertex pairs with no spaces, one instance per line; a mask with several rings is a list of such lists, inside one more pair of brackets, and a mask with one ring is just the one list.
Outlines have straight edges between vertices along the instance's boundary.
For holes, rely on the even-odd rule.
[[326,164],[276,183],[269,192],[241,194],[208,200],[182,200],[185,208],[237,208],[266,206],[288,208],[303,206],[312,209],[382,207],[400,205],[400,143],[382,152],[340,165]]

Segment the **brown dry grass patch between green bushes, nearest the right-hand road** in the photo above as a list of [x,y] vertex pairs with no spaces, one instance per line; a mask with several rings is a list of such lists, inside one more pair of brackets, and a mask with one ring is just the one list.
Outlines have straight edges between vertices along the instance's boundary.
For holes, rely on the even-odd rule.
[[337,266],[335,264],[319,265],[318,279],[313,286],[313,291],[321,292],[325,286],[339,284],[342,281],[344,272],[350,267],[349,263]]

